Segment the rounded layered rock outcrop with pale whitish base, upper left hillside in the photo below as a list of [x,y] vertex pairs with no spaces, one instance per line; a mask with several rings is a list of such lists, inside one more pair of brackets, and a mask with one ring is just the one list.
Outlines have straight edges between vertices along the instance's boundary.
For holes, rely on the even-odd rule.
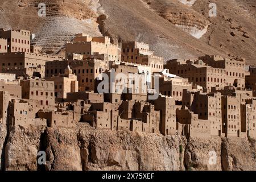
[[[38,7],[39,0],[30,0],[29,6]],[[103,13],[98,1],[61,1],[47,0],[44,23],[36,33],[32,43],[43,47],[43,52],[58,53],[75,34],[86,32],[100,36],[96,23]]]

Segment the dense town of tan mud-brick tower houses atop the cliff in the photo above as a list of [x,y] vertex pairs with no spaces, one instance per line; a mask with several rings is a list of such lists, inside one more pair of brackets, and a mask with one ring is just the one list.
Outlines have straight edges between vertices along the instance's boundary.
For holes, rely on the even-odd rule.
[[63,57],[31,39],[0,29],[1,125],[256,139],[256,68],[243,59],[165,61],[146,43],[83,33]]

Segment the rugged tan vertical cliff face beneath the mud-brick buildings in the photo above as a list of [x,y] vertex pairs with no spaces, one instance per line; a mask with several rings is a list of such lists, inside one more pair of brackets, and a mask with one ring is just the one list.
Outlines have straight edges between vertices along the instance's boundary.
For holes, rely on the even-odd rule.
[[[5,170],[255,170],[255,146],[245,139],[186,139],[177,135],[30,126],[1,126]],[[6,140],[6,142],[5,142]],[[38,151],[47,163],[37,165]],[[215,151],[217,163],[209,164]]]

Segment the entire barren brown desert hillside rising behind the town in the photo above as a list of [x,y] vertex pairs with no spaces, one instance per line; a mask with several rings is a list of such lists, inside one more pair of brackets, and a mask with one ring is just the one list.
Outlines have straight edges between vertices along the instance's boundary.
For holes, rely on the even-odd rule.
[[[47,0],[47,17],[38,16],[39,0],[2,0],[3,28],[35,32],[47,53],[62,53],[77,32],[108,35],[113,42],[150,43],[166,60],[204,54],[243,57],[256,62],[256,2],[253,0]],[[209,3],[217,17],[209,18]]]

